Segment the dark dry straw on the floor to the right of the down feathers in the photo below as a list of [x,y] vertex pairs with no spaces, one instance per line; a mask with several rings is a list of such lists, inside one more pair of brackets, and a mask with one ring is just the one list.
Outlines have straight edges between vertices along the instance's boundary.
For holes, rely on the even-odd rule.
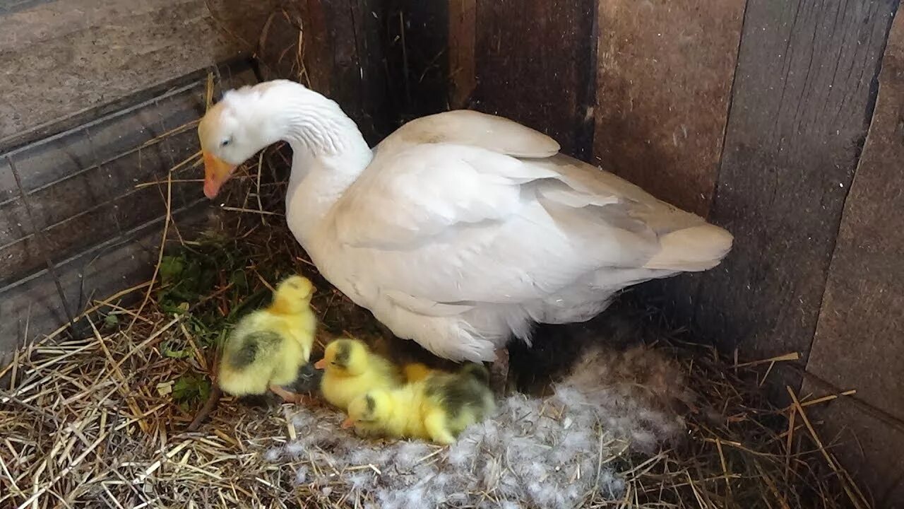
[[635,505],[871,507],[806,413],[852,391],[800,401],[788,388],[795,404],[777,408],[767,401],[763,382],[774,362],[795,354],[739,364],[711,346],[667,338],[663,344],[682,361],[696,408],[682,446],[636,467],[626,495]]

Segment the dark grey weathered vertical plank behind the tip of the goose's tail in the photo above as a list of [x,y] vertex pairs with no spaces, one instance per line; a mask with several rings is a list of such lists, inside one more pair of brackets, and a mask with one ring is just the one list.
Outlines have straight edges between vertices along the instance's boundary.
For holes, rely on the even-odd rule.
[[897,6],[748,3],[710,215],[735,243],[695,317],[742,356],[810,350]]

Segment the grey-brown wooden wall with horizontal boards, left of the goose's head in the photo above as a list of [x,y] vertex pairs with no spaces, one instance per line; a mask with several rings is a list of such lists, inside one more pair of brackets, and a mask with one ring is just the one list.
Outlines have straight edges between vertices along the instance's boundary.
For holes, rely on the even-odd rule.
[[[255,52],[275,2],[240,4],[0,7],[0,357],[150,275],[165,186],[140,185],[197,150],[208,70]],[[218,72],[221,86],[257,81],[247,62]],[[174,186],[175,217],[199,204],[198,186]]]

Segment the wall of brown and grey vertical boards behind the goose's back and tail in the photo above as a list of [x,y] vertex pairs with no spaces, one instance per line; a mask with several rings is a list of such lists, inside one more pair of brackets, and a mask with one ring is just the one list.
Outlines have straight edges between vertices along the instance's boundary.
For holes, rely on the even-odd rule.
[[458,103],[473,90],[476,109],[726,226],[720,267],[640,293],[741,358],[800,353],[782,391],[858,389],[822,408],[824,439],[845,432],[879,506],[904,500],[899,1],[449,5],[450,62],[475,70],[452,74]]

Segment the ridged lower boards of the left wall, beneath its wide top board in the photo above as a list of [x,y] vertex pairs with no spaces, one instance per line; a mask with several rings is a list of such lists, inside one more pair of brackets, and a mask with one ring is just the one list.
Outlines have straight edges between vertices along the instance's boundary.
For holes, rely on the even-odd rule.
[[[257,80],[247,62],[224,66],[220,74],[221,87]],[[50,253],[77,312],[89,296],[115,293],[151,274],[167,172],[198,150],[194,126],[204,110],[206,72],[179,82],[150,100],[8,153],[46,235],[34,235],[9,168],[0,167],[0,351],[25,340],[26,322],[28,339],[65,322],[43,254]],[[174,178],[200,178],[199,171],[185,167]],[[145,182],[155,184],[137,187]],[[208,205],[196,182],[173,185],[176,215],[183,210],[203,218],[202,207],[193,206],[199,202]]]

